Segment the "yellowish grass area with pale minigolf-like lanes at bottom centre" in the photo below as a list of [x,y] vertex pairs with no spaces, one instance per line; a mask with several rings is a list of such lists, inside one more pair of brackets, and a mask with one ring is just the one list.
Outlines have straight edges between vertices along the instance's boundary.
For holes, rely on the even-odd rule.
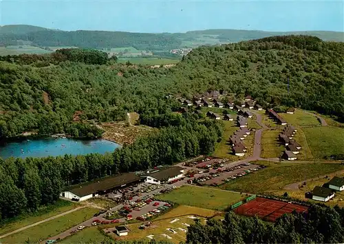
[[[178,206],[177,208],[169,211],[166,215],[162,215],[158,219],[155,219],[150,228],[146,230],[140,230],[138,227],[142,225],[140,223],[133,223],[127,225],[130,232],[128,236],[117,236],[111,234],[116,240],[120,241],[132,241],[132,240],[146,240],[149,241],[147,236],[153,235],[156,241],[169,241],[171,243],[180,243],[186,241],[186,233],[183,230],[187,230],[188,226],[195,223],[195,220],[190,217],[197,216],[201,223],[205,223],[205,217],[212,217],[215,212],[202,208],[195,208],[189,206]],[[172,222],[172,223],[171,223]],[[175,230],[175,234],[166,230],[171,228]],[[171,239],[167,239],[162,234],[167,234]]]

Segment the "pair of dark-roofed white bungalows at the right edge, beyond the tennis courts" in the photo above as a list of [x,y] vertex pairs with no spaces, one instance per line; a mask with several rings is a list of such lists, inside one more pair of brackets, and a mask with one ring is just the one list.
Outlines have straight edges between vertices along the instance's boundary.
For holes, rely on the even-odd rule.
[[344,190],[344,178],[334,177],[323,186],[315,186],[312,191],[312,199],[321,202],[327,202],[334,197],[335,191]]

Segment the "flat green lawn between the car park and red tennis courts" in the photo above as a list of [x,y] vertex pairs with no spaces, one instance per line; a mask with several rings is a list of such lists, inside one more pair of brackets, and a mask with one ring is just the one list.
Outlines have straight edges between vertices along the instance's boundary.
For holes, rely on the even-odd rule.
[[222,211],[231,204],[239,202],[244,197],[244,195],[240,195],[239,193],[231,193],[216,188],[182,186],[170,193],[159,195],[158,199],[175,202],[180,205]]

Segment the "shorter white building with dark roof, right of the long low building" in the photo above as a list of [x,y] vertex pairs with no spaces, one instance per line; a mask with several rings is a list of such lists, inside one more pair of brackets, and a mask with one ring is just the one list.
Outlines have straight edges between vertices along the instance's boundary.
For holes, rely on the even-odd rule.
[[162,184],[164,182],[171,182],[182,177],[184,177],[184,168],[178,166],[168,167],[148,173],[144,182],[150,184]]

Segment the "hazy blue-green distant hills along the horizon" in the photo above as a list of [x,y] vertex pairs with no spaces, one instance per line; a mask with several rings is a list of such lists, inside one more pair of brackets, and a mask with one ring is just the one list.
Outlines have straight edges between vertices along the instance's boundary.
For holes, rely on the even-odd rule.
[[31,25],[6,25],[1,27],[0,45],[33,45],[38,47],[83,47],[111,49],[133,47],[140,51],[164,51],[171,49],[219,45],[266,38],[269,36],[306,34],[322,40],[344,41],[344,32],[263,32],[239,29],[206,29],[186,33],[131,33],[84,31],[65,32]]

